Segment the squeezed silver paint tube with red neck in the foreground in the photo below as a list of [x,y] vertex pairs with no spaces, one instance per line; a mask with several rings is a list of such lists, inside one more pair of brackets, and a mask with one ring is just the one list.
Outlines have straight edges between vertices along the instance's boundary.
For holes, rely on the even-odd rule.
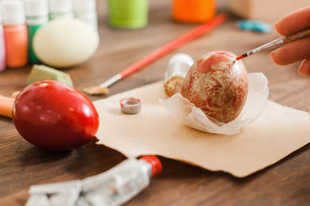
[[150,178],[161,170],[161,161],[154,155],[126,159],[114,168],[82,181],[33,185],[25,206],[122,205],[144,190]]

